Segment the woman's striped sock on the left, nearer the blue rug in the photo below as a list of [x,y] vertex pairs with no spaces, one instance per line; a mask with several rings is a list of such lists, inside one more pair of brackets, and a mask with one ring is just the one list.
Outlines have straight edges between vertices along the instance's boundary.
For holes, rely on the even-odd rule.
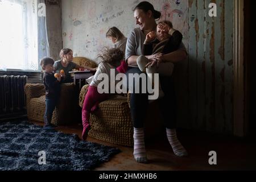
[[138,163],[147,163],[147,155],[144,143],[144,129],[136,129],[134,128],[134,159]]

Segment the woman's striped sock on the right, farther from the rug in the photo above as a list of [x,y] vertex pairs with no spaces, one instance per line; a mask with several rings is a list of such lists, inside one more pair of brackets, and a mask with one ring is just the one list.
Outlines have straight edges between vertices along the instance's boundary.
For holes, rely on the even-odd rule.
[[174,154],[180,157],[188,156],[188,152],[181,145],[180,141],[177,139],[175,129],[166,129],[167,138],[174,150]]

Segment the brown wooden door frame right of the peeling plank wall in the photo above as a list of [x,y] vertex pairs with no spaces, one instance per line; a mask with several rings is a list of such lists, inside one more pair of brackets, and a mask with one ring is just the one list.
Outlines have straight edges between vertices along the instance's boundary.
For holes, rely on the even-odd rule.
[[234,95],[233,133],[237,137],[247,134],[245,61],[244,61],[244,1],[234,0]]

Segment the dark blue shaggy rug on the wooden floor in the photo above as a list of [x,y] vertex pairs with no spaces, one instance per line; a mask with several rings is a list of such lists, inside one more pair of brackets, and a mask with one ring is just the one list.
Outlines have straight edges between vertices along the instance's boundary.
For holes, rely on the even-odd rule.
[[87,171],[119,152],[26,121],[0,123],[0,171]]

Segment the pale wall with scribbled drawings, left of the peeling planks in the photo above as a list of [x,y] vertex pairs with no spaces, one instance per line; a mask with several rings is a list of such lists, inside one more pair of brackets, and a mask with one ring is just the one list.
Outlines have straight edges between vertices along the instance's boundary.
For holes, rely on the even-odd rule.
[[[127,37],[135,25],[133,7],[140,1],[126,0],[63,0],[63,47],[73,49],[75,56],[95,60],[99,50],[111,46],[106,39],[110,27],[118,27]],[[188,1],[149,1],[162,18],[171,20],[188,44]],[[97,62],[97,60],[96,60]]]

